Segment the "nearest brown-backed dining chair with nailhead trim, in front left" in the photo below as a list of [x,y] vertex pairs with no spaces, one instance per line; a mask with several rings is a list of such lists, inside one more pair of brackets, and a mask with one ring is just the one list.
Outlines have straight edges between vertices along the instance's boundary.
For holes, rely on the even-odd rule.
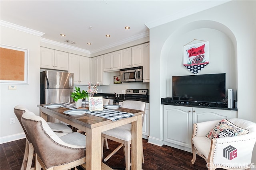
[[35,170],[67,170],[85,163],[86,136],[74,132],[58,137],[31,111],[22,115],[21,122],[36,152]]

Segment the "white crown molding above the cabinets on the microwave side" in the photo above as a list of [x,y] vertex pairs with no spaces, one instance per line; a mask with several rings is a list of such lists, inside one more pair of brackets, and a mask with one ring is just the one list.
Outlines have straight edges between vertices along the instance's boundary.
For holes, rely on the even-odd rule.
[[129,43],[129,42],[135,41],[135,40],[137,40],[137,39],[141,39],[141,38],[144,38],[144,37],[148,37],[148,36],[149,36],[149,31],[144,32],[144,33],[141,33],[141,34],[138,34],[138,35],[134,35],[134,36],[132,36],[132,37],[123,39],[122,41],[117,41],[116,43],[112,43],[112,44],[103,46],[103,47],[100,48],[100,49],[92,50],[92,51],[91,51],[91,54],[97,53],[97,52],[100,52],[100,51],[103,51],[103,50],[106,50],[106,49],[110,49],[110,48],[116,47],[116,46],[118,46],[118,45],[122,45],[122,44],[125,44],[125,43]]

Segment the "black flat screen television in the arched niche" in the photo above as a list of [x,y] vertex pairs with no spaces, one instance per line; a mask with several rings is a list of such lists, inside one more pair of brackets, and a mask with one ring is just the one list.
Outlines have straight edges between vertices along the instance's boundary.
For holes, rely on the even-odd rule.
[[226,103],[226,74],[172,76],[172,98],[184,102]]

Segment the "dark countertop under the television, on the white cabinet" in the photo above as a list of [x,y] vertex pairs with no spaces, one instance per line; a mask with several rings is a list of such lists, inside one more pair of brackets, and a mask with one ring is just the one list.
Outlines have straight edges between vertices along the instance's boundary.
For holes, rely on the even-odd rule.
[[237,108],[228,108],[227,104],[219,103],[205,103],[205,102],[180,102],[177,100],[172,100],[172,98],[162,98],[161,104],[163,105],[173,105],[173,106],[186,106],[186,107],[201,107],[208,109],[222,109],[222,110],[237,110]]

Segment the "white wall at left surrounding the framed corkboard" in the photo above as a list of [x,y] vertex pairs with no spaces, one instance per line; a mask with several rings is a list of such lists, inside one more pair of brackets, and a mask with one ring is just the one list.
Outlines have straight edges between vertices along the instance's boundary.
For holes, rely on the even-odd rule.
[[[28,84],[0,84],[0,143],[24,138],[23,129],[13,112],[22,104],[39,115],[40,100],[40,37],[16,29],[1,26],[1,44],[28,49]],[[17,90],[8,90],[15,85]],[[10,118],[16,123],[10,124]]]

